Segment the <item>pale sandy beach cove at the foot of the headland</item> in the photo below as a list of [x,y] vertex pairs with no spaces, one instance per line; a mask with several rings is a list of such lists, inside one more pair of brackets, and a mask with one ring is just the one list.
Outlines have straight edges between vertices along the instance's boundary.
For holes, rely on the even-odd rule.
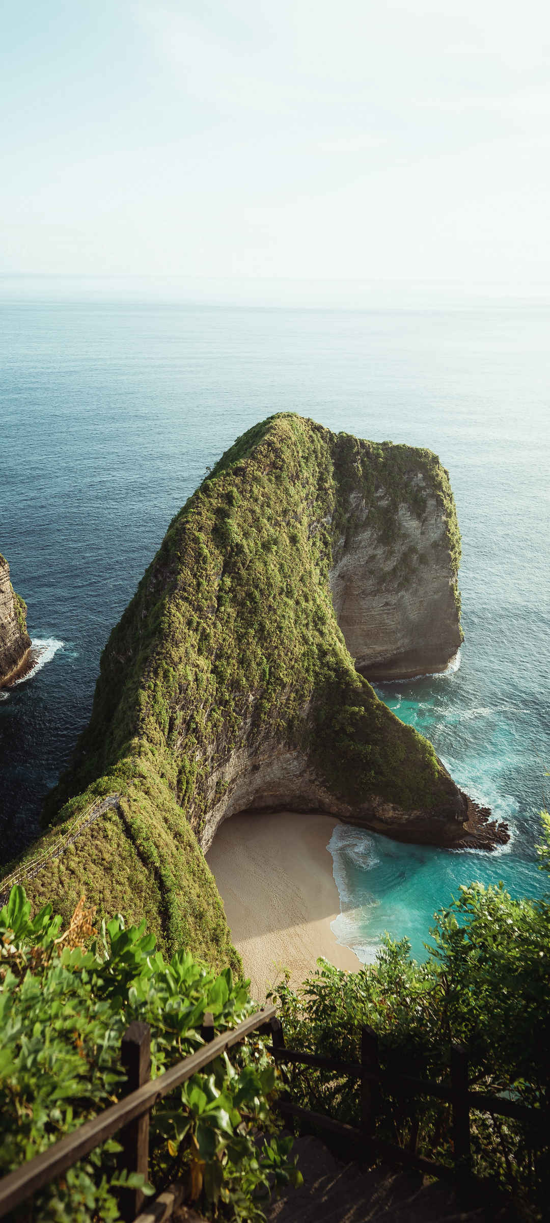
[[319,955],[339,969],[362,967],[330,928],[340,912],[326,849],[336,823],[332,816],[296,812],[232,816],[207,854],[258,1000],[284,969],[299,985]]

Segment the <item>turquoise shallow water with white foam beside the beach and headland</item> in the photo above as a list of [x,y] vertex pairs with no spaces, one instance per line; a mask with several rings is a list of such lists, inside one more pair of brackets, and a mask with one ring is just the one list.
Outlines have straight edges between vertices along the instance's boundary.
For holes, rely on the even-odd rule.
[[[461,651],[461,662],[466,651]],[[461,668],[462,669],[462,668]],[[341,915],[332,923],[339,940],[370,963],[385,931],[407,936],[412,953],[425,956],[429,927],[436,909],[457,896],[461,884],[502,881],[515,895],[541,895],[548,881],[535,871],[533,845],[538,835],[538,806],[523,800],[517,780],[528,768],[522,750],[529,739],[532,715],[516,703],[467,706],[468,667],[464,674],[379,686],[383,700],[403,722],[435,744],[439,755],[462,786],[507,819],[511,844],[493,854],[445,852],[420,845],[400,845],[358,828],[340,826],[330,841]],[[540,739],[544,740],[544,719]],[[538,762],[534,764],[538,775]],[[533,785],[534,790],[534,785]]]

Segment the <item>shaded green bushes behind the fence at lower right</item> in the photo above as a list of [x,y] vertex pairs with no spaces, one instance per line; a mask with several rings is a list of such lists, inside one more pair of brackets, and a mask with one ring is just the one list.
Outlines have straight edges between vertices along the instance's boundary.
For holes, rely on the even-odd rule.
[[[549,840],[540,849],[550,863]],[[546,865],[545,868],[549,868]],[[461,889],[435,915],[425,964],[389,938],[374,965],[346,974],[324,960],[293,992],[277,989],[288,1046],[361,1060],[361,1030],[379,1037],[383,1066],[449,1082],[451,1043],[466,1046],[471,1088],[535,1109],[550,1104],[550,896],[512,900],[502,884]],[[296,1103],[359,1123],[359,1087],[329,1070],[288,1071]],[[548,1114],[546,1114],[548,1117]],[[451,1162],[451,1114],[440,1101],[383,1096],[379,1136]],[[550,1190],[544,1115],[524,1124],[472,1112],[474,1170],[540,1217]],[[535,1212],[532,1214],[530,1212]]]

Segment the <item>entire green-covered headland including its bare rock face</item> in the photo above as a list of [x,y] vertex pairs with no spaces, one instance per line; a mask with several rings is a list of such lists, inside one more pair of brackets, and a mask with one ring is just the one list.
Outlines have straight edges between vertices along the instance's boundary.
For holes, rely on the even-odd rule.
[[86,890],[100,911],[147,916],[167,947],[222,959],[202,851],[236,811],[326,811],[452,848],[506,840],[354,665],[446,665],[462,640],[458,560],[430,451],[290,413],[240,438],[111,634],[40,851],[98,800],[104,813],[26,884],[34,903],[70,912]]

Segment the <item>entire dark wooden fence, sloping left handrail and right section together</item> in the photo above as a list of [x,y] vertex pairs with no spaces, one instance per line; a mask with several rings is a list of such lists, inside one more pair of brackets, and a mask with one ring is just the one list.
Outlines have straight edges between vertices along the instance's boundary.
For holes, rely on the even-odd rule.
[[[500,1117],[508,1117],[515,1120],[538,1121],[540,1131],[546,1128],[549,1131],[550,1117],[548,1109],[528,1108],[513,1099],[494,1096],[485,1092],[471,1091],[468,1082],[468,1058],[461,1046],[453,1046],[451,1052],[450,1082],[439,1084],[428,1079],[417,1079],[392,1071],[390,1068],[381,1069],[378,1049],[378,1037],[372,1027],[362,1029],[361,1063],[340,1062],[336,1058],[320,1057],[314,1053],[303,1053],[301,1049],[287,1049],[285,1046],[282,1026],[276,1018],[275,1007],[265,1007],[264,1010],[255,1011],[248,1019],[238,1024],[237,1027],[220,1036],[214,1033],[214,1020],[208,1013],[204,1015],[200,1035],[204,1046],[177,1062],[176,1065],[165,1070],[158,1079],[150,1080],[150,1029],[148,1024],[133,1022],[122,1037],[121,1060],[127,1073],[127,1095],[119,1103],[98,1113],[89,1121],[84,1121],[72,1134],[49,1147],[42,1155],[23,1163],[15,1172],[9,1173],[0,1180],[0,1218],[15,1210],[21,1202],[27,1201],[34,1192],[62,1175],[78,1159],[89,1155],[94,1147],[120,1134],[123,1152],[121,1155],[121,1167],[128,1172],[143,1173],[148,1177],[149,1164],[149,1113],[150,1109],[167,1096],[175,1087],[180,1086],[203,1070],[214,1058],[224,1053],[225,1049],[237,1044],[258,1029],[269,1027],[273,1044],[270,1052],[275,1060],[281,1064],[295,1064],[312,1066],[323,1070],[332,1070],[341,1077],[361,1080],[361,1124],[356,1129],[336,1121],[324,1113],[315,1113],[310,1109],[293,1104],[291,1099],[279,1099],[277,1109],[284,1117],[295,1117],[308,1126],[329,1131],[348,1141],[352,1150],[358,1155],[372,1157],[381,1156],[389,1163],[402,1163],[418,1168],[438,1178],[461,1178],[463,1183],[473,1181],[472,1156],[471,1156],[471,1110],[493,1113]],[[397,1144],[386,1142],[375,1136],[376,1118],[381,1109],[381,1093],[386,1091],[392,1096],[418,1097],[427,1096],[442,1099],[452,1109],[452,1139],[453,1139],[453,1164],[436,1163],[427,1159],[416,1152],[416,1141],[409,1146],[400,1147]],[[121,1190],[121,1213],[127,1223],[149,1223],[149,1221],[167,1219],[172,1212],[174,1196],[163,1194],[156,1199],[156,1203],[147,1213],[139,1216],[143,1205],[141,1190]],[[136,1218],[139,1216],[139,1219]]]

